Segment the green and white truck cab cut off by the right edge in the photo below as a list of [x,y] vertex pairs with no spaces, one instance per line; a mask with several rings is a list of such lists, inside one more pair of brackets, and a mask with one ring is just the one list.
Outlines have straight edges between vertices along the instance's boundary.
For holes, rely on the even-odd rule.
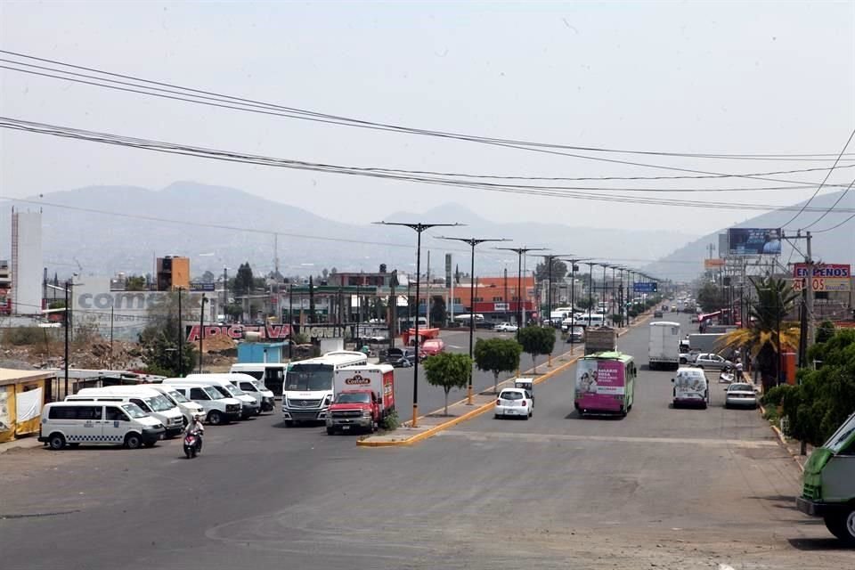
[[810,453],[795,505],[811,517],[822,517],[832,534],[855,547],[855,413]]

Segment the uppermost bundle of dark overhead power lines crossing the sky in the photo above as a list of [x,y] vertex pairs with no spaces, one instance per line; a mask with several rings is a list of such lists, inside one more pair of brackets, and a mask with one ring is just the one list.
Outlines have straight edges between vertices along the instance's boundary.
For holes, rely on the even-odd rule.
[[[641,155],[641,156],[657,156],[657,157],[672,157],[672,158],[689,158],[689,159],[744,159],[744,160],[822,160],[826,159],[829,156],[823,153],[812,153],[812,154],[786,154],[786,153],[778,153],[778,154],[729,154],[729,153],[720,153],[720,152],[672,152],[672,151],[639,151],[639,150],[626,150],[626,149],[616,149],[616,148],[606,148],[606,147],[594,147],[594,146],[585,146],[585,145],[571,145],[571,144],[557,144],[557,143],[549,143],[549,142],[534,142],[534,141],[526,141],[522,139],[509,139],[509,138],[499,138],[499,137],[488,137],[483,135],[476,134],[464,134],[464,133],[456,133],[452,131],[442,131],[436,129],[426,129],[426,128],[417,128],[411,126],[401,126],[395,125],[391,123],[382,123],[378,121],[371,121],[361,118],[350,118],[340,115],[333,115],[330,113],[322,113],[314,110],[305,110],[297,107],[290,107],[286,105],[279,105],[270,102],[261,102],[253,99],[248,99],[246,97],[238,97],[228,94],[220,94],[214,91],[205,90],[205,89],[197,89],[193,87],[176,85],[161,81],[155,81],[151,79],[147,79],[144,77],[135,77],[132,75],[122,74],[107,71],[105,69],[97,69],[94,67],[87,67],[77,64],[72,64],[66,61],[58,61],[51,60],[47,58],[41,58],[34,55],[30,55],[27,53],[20,52],[12,52],[9,50],[0,50],[0,53],[5,53],[7,55],[11,55],[17,60],[9,60],[4,59],[3,61],[7,63],[12,63],[13,65],[20,66],[18,68],[10,68],[8,66],[2,66],[5,69],[10,69],[12,71],[18,71],[23,73],[31,73],[37,75],[43,75],[45,77],[53,77],[56,79],[61,79],[65,81],[76,81],[78,83],[87,83],[85,81],[81,81],[78,79],[74,79],[73,77],[85,77],[88,79],[93,79],[95,81],[99,81],[102,83],[99,84],[90,84],[101,87],[108,88],[118,88],[116,85],[125,85],[126,87],[133,87],[134,89],[144,89],[146,90],[143,94],[154,95],[154,96],[162,96],[166,98],[177,98],[184,97],[183,101],[189,102],[197,102],[202,104],[211,104],[214,106],[224,106],[224,103],[228,104],[237,104],[240,105],[240,110],[257,110],[260,112],[267,112],[270,110],[277,111],[285,111],[289,113],[287,116],[289,118],[297,118],[301,120],[314,120],[321,122],[328,122],[332,124],[336,124],[338,126],[351,126],[351,127],[359,127],[359,128],[368,128],[374,130],[383,130],[383,131],[392,131],[402,134],[419,134],[424,136],[435,136],[442,138],[451,138],[458,139],[468,142],[482,142],[487,144],[498,144],[503,146],[512,146],[514,148],[522,147],[523,150],[533,150],[534,148],[542,148],[542,149],[559,149],[566,151],[587,151],[587,152],[601,152],[601,153],[613,153],[613,154],[630,154],[630,155]],[[24,60],[24,61],[20,61]],[[61,68],[66,69],[56,69],[56,68],[48,68],[46,66],[39,66],[37,64],[31,63],[30,61],[40,61],[43,63],[50,63],[53,66],[61,66]],[[21,69],[21,68],[29,68],[29,69]],[[42,69],[45,71],[52,71],[53,73],[61,73],[62,76],[54,76],[45,73],[39,73],[33,71],[33,69]],[[77,69],[81,71],[88,71],[90,74],[94,73],[96,75],[83,74],[78,73],[76,71],[69,71],[68,69]],[[70,76],[70,77],[66,77]],[[117,79],[112,79],[111,77],[118,77],[120,79],[126,79],[128,81],[118,81]],[[133,82],[133,83],[130,83]],[[106,85],[112,84],[112,85]],[[138,92],[139,93],[139,92]],[[187,100],[187,97],[192,97],[192,100]],[[585,159],[594,159],[593,157],[580,157]],[[647,167],[657,167],[655,165],[644,165]]]

